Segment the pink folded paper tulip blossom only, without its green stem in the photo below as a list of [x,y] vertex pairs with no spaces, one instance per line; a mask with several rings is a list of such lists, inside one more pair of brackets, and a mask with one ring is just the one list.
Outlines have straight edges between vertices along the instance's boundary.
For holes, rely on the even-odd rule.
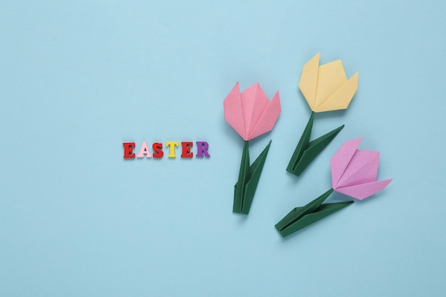
[[224,99],[224,119],[245,141],[269,132],[279,118],[279,91],[269,101],[259,83],[240,93],[239,83]]

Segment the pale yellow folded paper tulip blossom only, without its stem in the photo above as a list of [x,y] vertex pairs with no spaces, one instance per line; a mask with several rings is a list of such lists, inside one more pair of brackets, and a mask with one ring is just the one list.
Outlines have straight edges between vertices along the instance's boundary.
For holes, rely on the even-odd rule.
[[302,70],[299,89],[315,113],[348,108],[358,90],[358,73],[347,79],[341,60],[319,66],[319,56],[311,58]]

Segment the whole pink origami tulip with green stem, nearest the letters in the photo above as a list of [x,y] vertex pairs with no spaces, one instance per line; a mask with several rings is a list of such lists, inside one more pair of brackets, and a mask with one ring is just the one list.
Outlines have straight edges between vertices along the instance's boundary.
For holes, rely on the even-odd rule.
[[249,140],[271,131],[274,127],[281,111],[279,92],[276,92],[270,102],[259,83],[251,85],[243,93],[240,93],[239,83],[237,83],[224,99],[223,105],[224,119],[244,139],[239,179],[234,187],[232,212],[249,214],[266,155],[268,155],[271,145],[270,141],[250,166]]

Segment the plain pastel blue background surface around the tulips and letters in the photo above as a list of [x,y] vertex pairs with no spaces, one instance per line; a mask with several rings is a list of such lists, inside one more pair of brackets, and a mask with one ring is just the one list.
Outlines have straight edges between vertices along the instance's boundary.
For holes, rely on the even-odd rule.
[[[444,296],[444,1],[1,1],[0,296]],[[341,58],[346,127],[297,178],[304,63]],[[239,81],[279,90],[248,217],[232,214]],[[281,239],[363,136],[383,192]],[[209,159],[123,160],[123,142],[209,142]],[[138,149],[137,149],[138,150]],[[253,157],[253,159],[254,159]],[[348,200],[335,193],[330,202]]]

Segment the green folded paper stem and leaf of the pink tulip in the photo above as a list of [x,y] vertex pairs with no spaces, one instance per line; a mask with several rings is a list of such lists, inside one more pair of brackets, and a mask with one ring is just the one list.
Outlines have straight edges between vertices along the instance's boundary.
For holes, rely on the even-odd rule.
[[270,145],[271,140],[254,163],[249,166],[249,144],[247,141],[244,142],[239,179],[234,186],[234,205],[232,212],[249,214],[249,209],[251,209],[252,200],[256,193],[257,184],[259,184],[261,171],[263,170]]

